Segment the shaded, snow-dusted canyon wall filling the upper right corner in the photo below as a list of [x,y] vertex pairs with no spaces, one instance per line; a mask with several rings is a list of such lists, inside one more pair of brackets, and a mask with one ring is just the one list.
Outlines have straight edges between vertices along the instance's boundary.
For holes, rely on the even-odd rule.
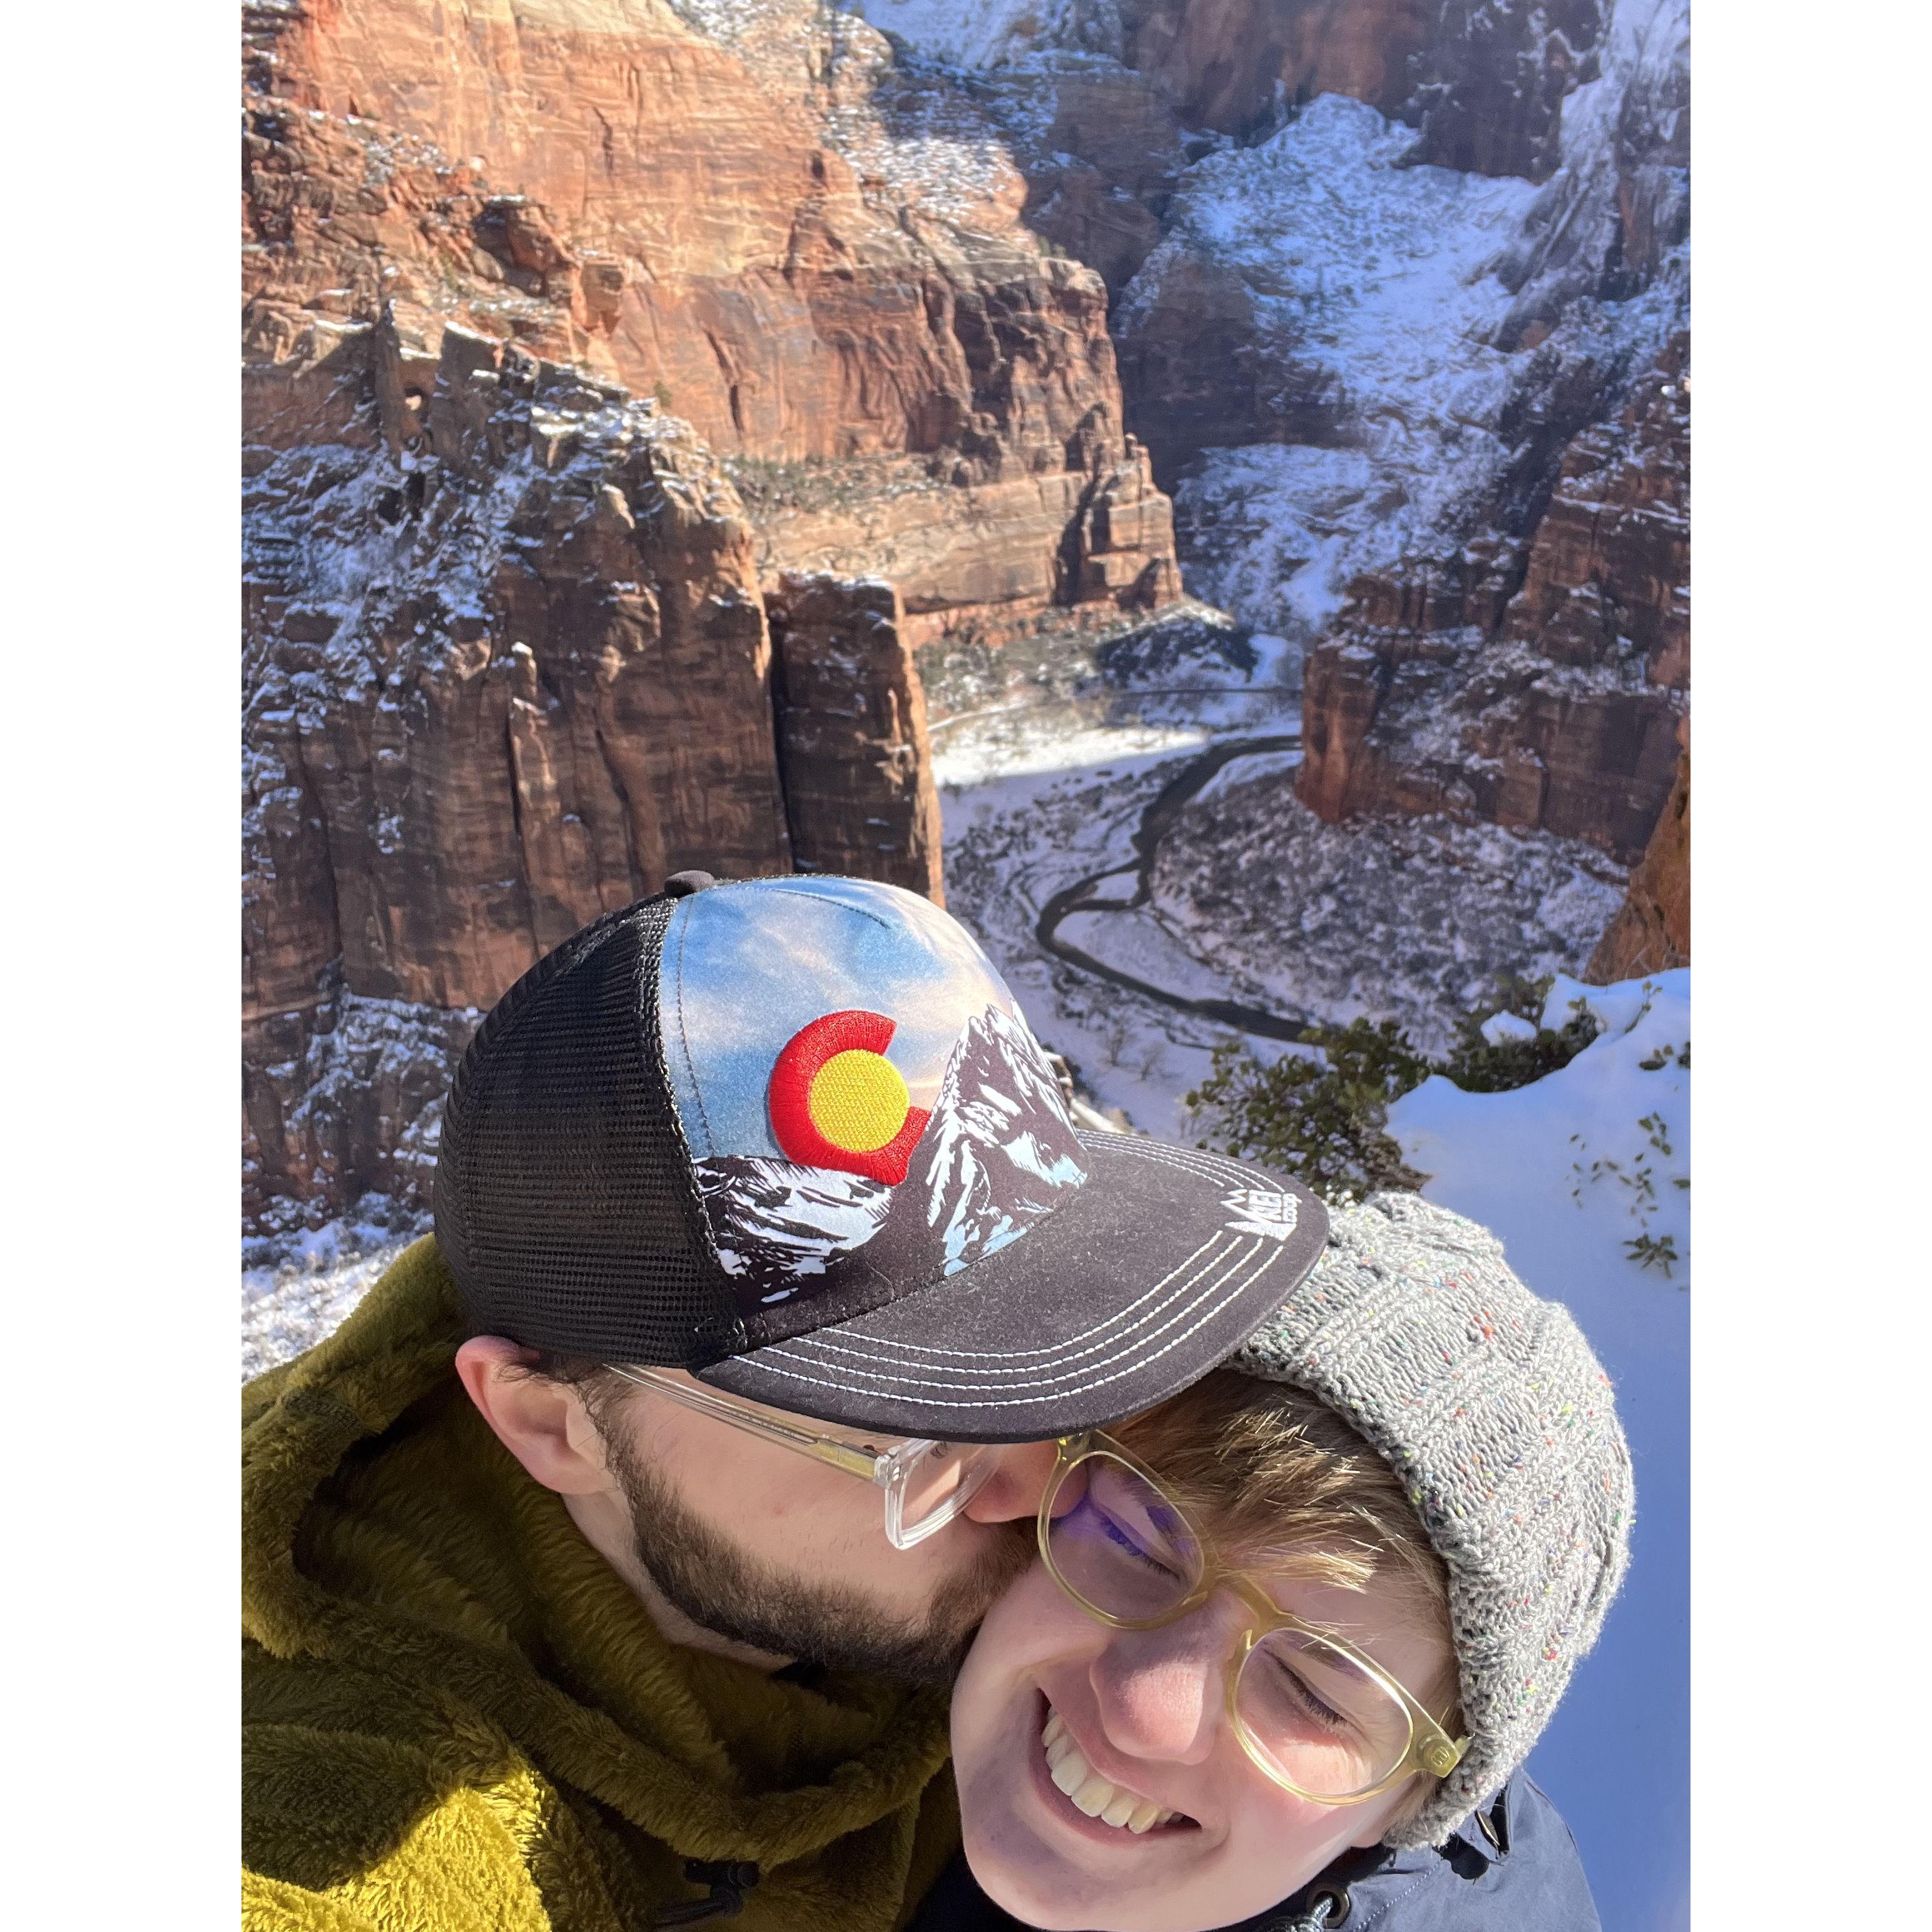
[[1683,0],[864,0],[1113,290],[1188,589],[1300,798],[1633,860],[1689,690]]

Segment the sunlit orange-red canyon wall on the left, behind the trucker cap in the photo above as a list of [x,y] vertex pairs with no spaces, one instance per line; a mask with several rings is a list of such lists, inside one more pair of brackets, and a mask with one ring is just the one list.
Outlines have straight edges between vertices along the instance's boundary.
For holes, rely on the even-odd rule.
[[891,68],[808,0],[243,8],[259,1236],[415,1211],[481,1012],[668,871],[939,896],[920,636],[1179,595],[1105,284]]

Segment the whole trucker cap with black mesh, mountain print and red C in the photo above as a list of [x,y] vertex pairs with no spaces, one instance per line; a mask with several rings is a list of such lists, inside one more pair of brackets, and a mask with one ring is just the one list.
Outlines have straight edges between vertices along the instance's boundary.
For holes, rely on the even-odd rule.
[[435,1204],[477,1333],[954,1441],[1165,1401],[1327,1238],[1294,1180],[1076,1130],[972,935],[823,875],[680,873],[533,966]]

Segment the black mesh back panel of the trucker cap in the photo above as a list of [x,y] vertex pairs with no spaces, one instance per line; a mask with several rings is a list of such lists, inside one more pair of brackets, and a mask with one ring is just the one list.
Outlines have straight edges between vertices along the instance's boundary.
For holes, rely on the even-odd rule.
[[665,1080],[657,958],[674,904],[564,941],[464,1055],[437,1242],[481,1333],[676,1368],[742,1345]]

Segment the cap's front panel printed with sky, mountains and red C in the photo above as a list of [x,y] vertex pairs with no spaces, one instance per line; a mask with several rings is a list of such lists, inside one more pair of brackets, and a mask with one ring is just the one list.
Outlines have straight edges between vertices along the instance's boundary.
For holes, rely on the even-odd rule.
[[1012,995],[916,893],[813,877],[696,893],[665,935],[659,1003],[699,1194],[748,1310],[958,1273],[1086,1180]]

